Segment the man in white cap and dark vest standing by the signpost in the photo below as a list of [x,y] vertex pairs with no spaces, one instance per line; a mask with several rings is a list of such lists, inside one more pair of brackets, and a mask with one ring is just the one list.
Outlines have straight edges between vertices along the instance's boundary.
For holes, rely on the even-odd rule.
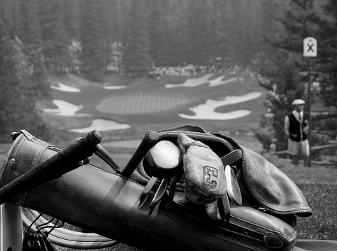
[[303,166],[309,165],[309,131],[308,118],[303,113],[304,104],[302,99],[292,102],[294,110],[285,116],[285,134],[288,136],[288,154],[292,157],[292,163],[299,164],[299,157],[303,157]]

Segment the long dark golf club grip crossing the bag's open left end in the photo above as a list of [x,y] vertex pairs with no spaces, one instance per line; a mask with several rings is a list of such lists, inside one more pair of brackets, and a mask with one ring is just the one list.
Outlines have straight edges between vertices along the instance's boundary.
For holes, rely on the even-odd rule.
[[31,168],[20,177],[16,178],[0,189],[0,204],[8,201],[13,196],[22,194],[38,185],[58,178],[64,173],[68,173],[80,164],[87,157],[96,152],[96,145],[101,143],[102,137],[98,131],[91,131],[80,140],[71,143],[64,150],[57,152],[49,159],[38,166]]

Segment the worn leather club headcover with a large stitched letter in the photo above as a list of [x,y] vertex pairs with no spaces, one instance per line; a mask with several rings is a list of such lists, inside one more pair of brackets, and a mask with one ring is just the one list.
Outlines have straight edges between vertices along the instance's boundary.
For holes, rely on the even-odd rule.
[[208,204],[223,196],[227,182],[220,157],[208,145],[194,141],[185,134],[179,134],[177,145],[182,152],[186,199]]

